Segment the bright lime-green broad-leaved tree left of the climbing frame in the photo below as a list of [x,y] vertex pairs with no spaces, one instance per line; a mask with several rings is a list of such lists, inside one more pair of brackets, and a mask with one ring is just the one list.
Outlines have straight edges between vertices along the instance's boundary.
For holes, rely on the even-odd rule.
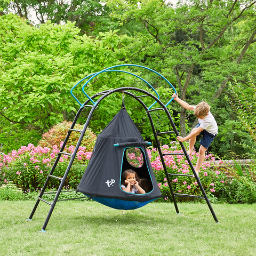
[[[122,59],[113,48],[122,45],[125,37],[115,36],[115,31],[97,39],[78,34],[71,22],[36,28],[16,15],[0,17],[2,151],[35,143],[54,124],[72,119],[78,106],[70,95],[71,87],[87,74]],[[100,86],[101,79],[93,90]],[[78,95],[83,101],[82,92]]]

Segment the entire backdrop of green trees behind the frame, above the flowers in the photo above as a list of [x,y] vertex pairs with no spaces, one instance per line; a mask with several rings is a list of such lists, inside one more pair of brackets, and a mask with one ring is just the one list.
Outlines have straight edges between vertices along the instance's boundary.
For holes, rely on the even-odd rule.
[[[7,154],[29,143],[37,145],[54,124],[73,120],[79,105],[70,89],[79,80],[106,67],[133,63],[165,76],[190,104],[209,102],[219,125],[212,153],[221,158],[251,157],[255,137],[250,122],[255,117],[250,119],[248,111],[239,117],[237,109],[255,111],[255,4],[251,0],[191,0],[175,6],[162,0],[0,1],[0,150]],[[164,99],[170,98],[172,92],[163,81],[148,79]],[[133,84],[129,76],[109,73],[86,91],[93,95]],[[102,102],[90,123],[95,134],[118,111],[118,97]],[[126,108],[145,139],[151,140],[150,124],[139,107],[128,99]],[[180,133],[189,133],[196,122],[193,113],[175,102],[169,108]],[[86,113],[81,124],[85,119]],[[165,125],[161,117],[159,121],[157,125]]]

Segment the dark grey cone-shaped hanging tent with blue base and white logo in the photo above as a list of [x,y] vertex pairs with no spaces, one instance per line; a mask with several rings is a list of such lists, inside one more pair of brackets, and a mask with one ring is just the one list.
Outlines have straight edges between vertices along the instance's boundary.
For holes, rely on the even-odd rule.
[[[98,135],[90,162],[77,187],[94,201],[121,210],[142,207],[161,197],[142,135],[123,107]],[[127,159],[127,150],[139,149],[143,163],[135,167]],[[146,194],[127,193],[121,188],[122,172],[132,169],[149,183]],[[147,192],[147,191],[146,191]]]

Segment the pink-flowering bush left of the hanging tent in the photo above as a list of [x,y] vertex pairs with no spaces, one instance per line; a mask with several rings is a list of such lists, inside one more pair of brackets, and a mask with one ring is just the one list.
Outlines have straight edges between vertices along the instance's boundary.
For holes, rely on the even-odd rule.
[[[71,145],[65,151],[73,153],[74,149],[75,147]],[[84,150],[85,147],[79,147],[77,159],[70,169],[66,181],[70,188],[76,188],[84,173],[84,166],[89,162],[91,152]],[[8,155],[0,155],[0,185],[12,181],[23,191],[42,188],[59,151],[60,147],[57,145],[49,148],[29,144],[27,147],[22,146],[19,150],[12,150]],[[61,156],[53,172],[54,176],[63,177],[69,159],[67,155]],[[50,179],[49,187],[57,187],[59,183],[57,179]]]

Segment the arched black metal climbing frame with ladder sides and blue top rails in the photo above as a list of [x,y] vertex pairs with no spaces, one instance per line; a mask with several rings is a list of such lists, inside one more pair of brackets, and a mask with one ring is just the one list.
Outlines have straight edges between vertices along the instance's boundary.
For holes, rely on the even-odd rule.
[[[118,66],[110,67],[110,68],[108,68],[108,69],[110,69],[110,71],[122,71],[122,70],[111,70],[112,68],[116,68],[116,67],[120,67],[120,66],[135,66],[135,67],[146,68],[146,67],[139,66],[139,65],[118,65]],[[146,68],[146,69],[148,69],[148,70],[150,70],[150,71],[154,71],[154,70],[151,70],[151,69],[149,69],[149,68]],[[106,72],[106,69],[100,71],[99,73],[94,73],[93,76],[92,76],[92,75],[90,75],[90,76],[91,76],[91,78],[93,78],[93,77],[95,77],[95,76],[97,76],[97,75],[99,75],[99,74],[101,74],[101,73],[103,73],[103,72]],[[122,71],[122,72],[123,72],[123,71]],[[125,72],[125,73],[129,73],[129,72]],[[154,73],[156,73],[156,71],[154,71]],[[95,75],[95,74],[96,74],[96,75]],[[129,74],[131,74],[131,73],[129,73]],[[158,74],[158,73],[157,73],[157,74]],[[134,75],[134,74],[133,74],[133,75]],[[159,75],[159,74],[158,74],[158,75]],[[87,76],[87,77],[90,77],[90,76]],[[161,77],[163,77],[163,76],[161,76]],[[90,79],[91,79],[91,78],[90,78]],[[85,79],[85,78],[84,78],[84,79]],[[82,81],[83,81],[84,79],[82,79]],[[166,78],[164,78],[164,79],[166,80]],[[144,81],[144,80],[143,80],[143,81]],[[167,80],[166,80],[166,81],[167,81]],[[80,82],[81,82],[81,81],[80,81]],[[80,83],[80,82],[79,82],[79,83]],[[169,81],[167,81],[167,82],[170,84]],[[79,83],[78,83],[78,84],[79,84]],[[75,86],[77,86],[77,84],[76,84]],[[74,86],[74,87],[75,87],[75,86]],[[73,87],[73,88],[74,88],[74,87]],[[83,88],[84,88],[84,87],[83,87]],[[173,88],[173,89],[174,89],[174,88]],[[175,91],[175,89],[174,89],[174,91]],[[137,95],[137,94],[135,94],[135,93],[133,93],[133,92],[135,92],[135,93],[137,93],[137,94],[140,93],[140,95]],[[175,91],[175,92],[176,92],[176,91]],[[201,183],[199,177],[197,176],[197,174],[196,174],[196,172],[195,172],[194,166],[193,166],[193,164],[192,164],[191,161],[190,161],[189,155],[187,154],[186,148],[185,148],[185,146],[183,145],[183,143],[180,142],[180,146],[181,146],[181,148],[182,148],[183,153],[168,153],[168,154],[165,154],[165,153],[162,152],[161,145],[160,145],[160,142],[159,142],[158,137],[161,136],[161,135],[163,135],[163,134],[170,134],[170,133],[175,134],[175,136],[178,136],[178,135],[179,135],[179,132],[178,132],[177,128],[175,127],[175,124],[174,124],[174,122],[173,122],[173,119],[172,119],[172,117],[171,117],[171,114],[170,114],[169,110],[167,109],[167,106],[169,105],[169,103],[170,103],[171,101],[169,101],[169,102],[165,105],[165,104],[159,99],[159,97],[156,97],[154,94],[152,94],[152,93],[150,93],[150,92],[148,92],[148,91],[146,91],[146,90],[139,89],[139,88],[137,88],[137,87],[119,87],[119,88],[117,88],[117,89],[107,90],[107,91],[102,91],[102,92],[96,93],[96,94],[94,94],[92,97],[88,97],[87,94],[85,93],[85,94],[86,94],[86,97],[87,97],[88,99],[87,99],[83,104],[81,104],[81,103],[74,97],[74,98],[79,102],[79,104],[81,105],[81,107],[80,107],[80,108],[78,109],[78,111],[77,111],[77,114],[76,114],[76,116],[75,116],[75,118],[74,118],[74,121],[73,121],[73,123],[71,124],[71,127],[70,127],[70,129],[68,130],[68,132],[67,132],[67,137],[66,137],[65,141],[64,141],[63,144],[62,144],[62,147],[61,147],[61,149],[60,149],[60,151],[59,151],[59,153],[58,153],[57,158],[55,159],[55,162],[54,162],[54,164],[53,164],[53,166],[52,166],[52,169],[51,169],[50,173],[47,175],[47,178],[46,178],[46,181],[45,181],[45,183],[44,183],[44,186],[43,186],[43,188],[42,188],[42,190],[41,190],[41,193],[39,194],[38,199],[37,199],[37,201],[36,201],[36,203],[35,203],[35,206],[34,206],[32,212],[31,212],[31,214],[30,214],[30,216],[29,216],[29,219],[27,219],[27,220],[30,221],[30,220],[33,218],[33,215],[34,215],[34,213],[35,213],[35,211],[36,211],[36,209],[37,209],[37,206],[38,206],[39,202],[42,201],[42,202],[44,202],[44,203],[49,204],[49,205],[50,205],[50,210],[49,210],[49,213],[47,214],[47,217],[46,217],[46,219],[45,219],[44,225],[43,225],[42,230],[41,230],[41,231],[43,231],[43,232],[45,231],[46,226],[47,226],[47,223],[49,222],[49,220],[50,220],[50,218],[51,218],[51,214],[52,214],[52,212],[53,212],[53,210],[54,210],[55,204],[59,201],[59,196],[60,196],[61,190],[62,190],[62,188],[63,188],[64,185],[65,185],[65,181],[66,181],[66,179],[67,179],[67,177],[68,177],[70,168],[71,168],[71,166],[72,166],[72,164],[73,164],[73,162],[74,162],[74,160],[75,160],[75,157],[76,157],[76,154],[77,154],[79,145],[80,145],[81,142],[82,142],[82,139],[83,139],[83,137],[84,137],[84,134],[85,134],[85,132],[86,132],[87,127],[89,126],[89,123],[90,123],[90,120],[91,120],[91,118],[92,118],[92,116],[93,116],[94,110],[97,109],[97,107],[99,106],[99,104],[100,104],[100,102],[101,102],[102,100],[104,100],[106,97],[108,97],[109,95],[114,94],[114,93],[123,93],[123,95],[124,95],[124,94],[125,94],[125,95],[129,95],[129,97],[132,97],[132,98],[134,98],[135,100],[137,100],[137,101],[140,103],[140,105],[143,107],[143,109],[145,109],[145,111],[146,111],[146,113],[147,113],[147,116],[148,116],[148,118],[149,118],[149,121],[150,121],[151,129],[152,129],[153,134],[154,134],[154,138],[155,138],[155,141],[156,141],[156,147],[157,147],[157,149],[158,149],[158,153],[159,153],[159,156],[160,156],[160,158],[161,158],[161,162],[162,162],[162,164],[163,164],[163,169],[164,169],[164,172],[165,172],[165,175],[166,175],[167,183],[168,183],[169,188],[170,188],[170,193],[171,193],[171,197],[172,197],[172,199],[173,199],[173,203],[174,203],[174,207],[175,207],[176,213],[179,214],[179,209],[178,209],[176,197],[184,197],[184,196],[186,196],[186,197],[201,198],[201,199],[204,199],[204,200],[206,201],[206,203],[207,203],[207,205],[208,205],[208,207],[209,207],[209,209],[210,209],[210,211],[211,211],[211,213],[212,213],[213,219],[215,220],[215,222],[218,223],[219,221],[218,221],[218,219],[217,219],[217,217],[216,217],[216,215],[215,215],[215,213],[214,213],[214,211],[213,211],[213,208],[212,208],[212,205],[211,205],[211,203],[210,203],[210,200],[209,200],[209,198],[207,198],[207,195],[206,195],[205,190],[204,190],[204,188],[203,188],[203,186],[202,186],[202,183]],[[71,90],[71,94],[73,95],[72,90]],[[99,97],[100,97],[100,98],[99,98]],[[151,105],[151,106],[148,108],[148,107],[145,105],[145,103],[143,102],[143,100],[142,100],[144,97],[150,97],[151,99],[153,99],[153,100],[155,101],[155,103],[157,103],[157,104],[159,105],[159,108],[152,108],[152,109],[151,109],[151,107],[153,107],[153,105],[155,105],[155,103],[154,103],[153,105]],[[97,99],[97,98],[99,98],[99,99],[95,102],[94,99]],[[84,109],[87,109],[87,108],[90,108],[91,110],[90,110],[89,115],[87,116],[87,120],[86,120],[86,122],[85,122],[85,124],[84,124],[83,130],[76,130],[76,129],[74,129],[75,124],[77,123],[78,117],[81,115],[82,111],[83,111]],[[155,129],[155,126],[154,126],[153,118],[152,118],[152,116],[151,116],[151,113],[152,113],[153,111],[164,111],[164,113],[166,114],[166,117],[169,119],[169,122],[170,122],[170,124],[171,124],[171,126],[172,126],[173,131],[161,131],[161,132],[157,132],[156,129]],[[66,144],[67,144],[67,142],[68,142],[68,139],[69,139],[69,137],[70,137],[70,134],[71,134],[72,132],[78,132],[78,133],[80,133],[80,137],[79,137],[79,139],[78,139],[78,141],[77,141],[77,145],[76,145],[76,147],[75,147],[74,153],[73,153],[73,154],[69,154],[69,153],[66,153],[66,152],[65,152],[65,146],[66,146]],[[54,176],[53,173],[54,173],[55,167],[58,165],[59,160],[60,160],[60,157],[61,157],[62,155],[68,155],[68,156],[70,157],[70,161],[69,161],[69,164],[68,164],[67,169],[66,169],[66,171],[65,171],[65,174],[63,175],[63,177],[60,178],[60,177]],[[166,167],[166,165],[165,165],[164,156],[166,156],[166,155],[183,155],[183,156],[185,156],[186,159],[187,159],[187,161],[188,161],[188,164],[189,164],[189,166],[190,166],[190,169],[191,169],[191,171],[193,172],[194,175],[169,173],[169,172],[167,171],[167,167]],[[173,176],[176,176],[176,177],[178,177],[178,176],[185,176],[185,177],[195,178],[196,181],[197,181],[197,183],[198,183],[198,186],[199,186],[199,188],[200,188],[200,190],[201,190],[201,192],[202,192],[202,194],[203,194],[203,196],[195,196],[195,195],[174,193],[173,188],[172,188],[172,184],[171,184],[171,180],[170,180],[170,177],[173,177]],[[43,197],[43,195],[44,195],[44,193],[45,193],[45,190],[46,190],[46,188],[47,188],[47,185],[48,185],[50,179],[58,179],[58,180],[60,180],[60,185],[59,185],[59,188],[58,188],[58,190],[57,190],[57,192],[56,192],[56,194],[55,194],[55,197],[54,197],[53,201],[52,201],[52,202],[47,202],[47,201],[44,200],[42,197]]]

